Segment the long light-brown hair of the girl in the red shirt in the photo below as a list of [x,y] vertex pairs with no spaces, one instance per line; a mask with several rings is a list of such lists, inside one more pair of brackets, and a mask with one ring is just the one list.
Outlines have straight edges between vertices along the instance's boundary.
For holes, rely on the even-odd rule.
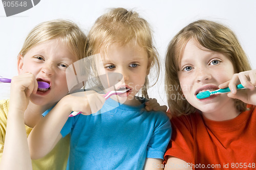
[[[165,91],[168,96],[182,94],[177,72],[178,61],[183,55],[186,43],[190,39],[197,40],[203,47],[224,54],[233,64],[236,73],[250,70],[248,58],[240,45],[236,35],[220,23],[209,20],[198,20],[183,28],[170,41],[165,58]],[[178,90],[169,90],[168,86],[179,87]],[[176,88],[177,89],[177,88]],[[239,111],[246,110],[246,104],[236,100]],[[194,113],[197,109],[186,100],[168,98],[170,112],[175,115]]]

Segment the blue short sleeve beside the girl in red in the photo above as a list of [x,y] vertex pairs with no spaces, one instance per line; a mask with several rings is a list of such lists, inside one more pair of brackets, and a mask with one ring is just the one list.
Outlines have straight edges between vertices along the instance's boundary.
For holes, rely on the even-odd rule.
[[169,118],[165,113],[160,115],[155,124],[156,126],[152,137],[147,144],[146,158],[163,159],[170,136],[172,135],[172,127],[170,126]]

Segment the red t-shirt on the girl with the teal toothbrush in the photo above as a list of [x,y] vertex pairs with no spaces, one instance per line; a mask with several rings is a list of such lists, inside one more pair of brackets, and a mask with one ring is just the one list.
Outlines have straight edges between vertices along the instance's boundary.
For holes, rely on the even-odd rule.
[[256,169],[256,109],[216,122],[200,113],[173,117],[173,134],[165,153],[193,169]]

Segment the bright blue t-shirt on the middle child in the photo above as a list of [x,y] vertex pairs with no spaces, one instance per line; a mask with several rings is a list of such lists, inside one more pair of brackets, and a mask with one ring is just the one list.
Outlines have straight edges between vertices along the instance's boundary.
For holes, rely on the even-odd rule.
[[163,159],[172,132],[166,114],[147,112],[144,103],[116,105],[108,99],[98,113],[69,117],[60,132],[71,133],[67,169],[134,170],[145,158]]

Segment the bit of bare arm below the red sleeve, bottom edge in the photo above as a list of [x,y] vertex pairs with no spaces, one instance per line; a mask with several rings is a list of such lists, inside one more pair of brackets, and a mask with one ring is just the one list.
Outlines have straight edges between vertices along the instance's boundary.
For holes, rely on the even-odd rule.
[[164,170],[192,170],[192,168],[184,160],[169,156]]

